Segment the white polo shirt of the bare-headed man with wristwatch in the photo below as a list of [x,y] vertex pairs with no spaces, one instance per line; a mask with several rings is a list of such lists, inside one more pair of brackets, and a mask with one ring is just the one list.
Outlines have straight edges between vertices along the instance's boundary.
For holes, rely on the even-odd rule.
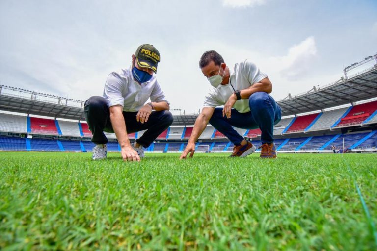
[[[228,84],[220,84],[217,88],[213,86],[210,87],[208,94],[204,99],[204,107],[224,105],[234,93],[234,90],[247,89],[254,83],[258,83],[267,77],[267,75],[262,73],[254,63],[247,59],[235,64],[234,69],[229,67],[229,74],[230,77]],[[249,99],[237,100],[233,105],[233,108],[241,113],[250,111]]]

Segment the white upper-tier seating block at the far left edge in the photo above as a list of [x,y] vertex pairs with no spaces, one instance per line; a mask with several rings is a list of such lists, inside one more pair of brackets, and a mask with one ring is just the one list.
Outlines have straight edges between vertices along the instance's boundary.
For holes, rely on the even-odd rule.
[[27,117],[0,113],[0,131],[27,133]]

